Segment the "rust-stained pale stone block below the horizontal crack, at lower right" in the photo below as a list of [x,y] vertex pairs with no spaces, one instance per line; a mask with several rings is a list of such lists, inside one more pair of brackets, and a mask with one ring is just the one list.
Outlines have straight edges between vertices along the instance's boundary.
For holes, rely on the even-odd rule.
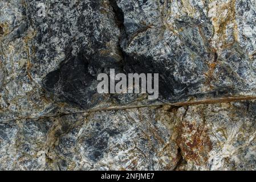
[[255,102],[198,105],[177,111],[183,169],[255,170]]

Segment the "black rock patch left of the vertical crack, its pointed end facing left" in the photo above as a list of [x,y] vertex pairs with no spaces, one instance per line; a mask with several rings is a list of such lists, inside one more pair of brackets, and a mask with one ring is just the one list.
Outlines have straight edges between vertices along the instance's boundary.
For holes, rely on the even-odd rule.
[[97,102],[94,100],[97,90],[92,87],[96,78],[88,71],[88,65],[83,53],[77,57],[71,56],[59,69],[48,73],[44,78],[45,88],[62,101],[88,109]]

